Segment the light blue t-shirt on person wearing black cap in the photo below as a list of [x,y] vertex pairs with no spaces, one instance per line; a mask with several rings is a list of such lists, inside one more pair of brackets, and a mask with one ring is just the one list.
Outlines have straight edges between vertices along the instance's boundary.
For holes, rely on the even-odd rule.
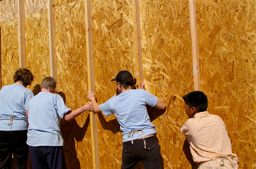
[[[110,98],[104,104],[99,105],[99,109],[105,116],[115,114],[120,123],[123,135],[123,142],[131,141],[128,133],[135,129],[142,129],[142,136],[149,136],[156,133],[154,124],[147,113],[146,105],[154,107],[158,98],[142,89],[131,89],[117,96]],[[139,139],[141,136],[134,132],[132,139]]]

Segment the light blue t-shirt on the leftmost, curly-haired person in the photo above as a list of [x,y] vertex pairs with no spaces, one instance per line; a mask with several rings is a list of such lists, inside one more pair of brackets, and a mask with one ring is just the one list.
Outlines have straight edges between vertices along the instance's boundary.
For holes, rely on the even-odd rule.
[[[21,131],[28,129],[26,110],[34,94],[23,85],[4,86],[0,91],[0,131]],[[11,117],[12,116],[12,125]]]

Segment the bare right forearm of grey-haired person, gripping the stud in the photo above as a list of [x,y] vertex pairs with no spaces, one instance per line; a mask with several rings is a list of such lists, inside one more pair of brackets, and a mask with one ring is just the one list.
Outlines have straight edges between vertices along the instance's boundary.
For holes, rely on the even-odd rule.
[[83,107],[80,107],[79,109],[70,110],[69,112],[64,114],[63,119],[66,121],[73,120],[76,118],[76,116],[79,116],[84,111],[92,111],[92,104],[88,102],[87,104],[83,105]]

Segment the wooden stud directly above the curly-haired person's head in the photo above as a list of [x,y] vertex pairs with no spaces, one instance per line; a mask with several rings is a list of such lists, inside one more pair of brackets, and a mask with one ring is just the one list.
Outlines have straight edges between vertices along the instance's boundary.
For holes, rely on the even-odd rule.
[[19,67],[26,68],[24,0],[18,0],[18,56]]

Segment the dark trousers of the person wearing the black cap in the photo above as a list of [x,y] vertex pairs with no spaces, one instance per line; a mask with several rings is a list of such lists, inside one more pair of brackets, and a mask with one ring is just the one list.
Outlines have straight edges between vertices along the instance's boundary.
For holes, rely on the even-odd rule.
[[136,139],[134,143],[123,143],[122,169],[133,169],[138,161],[142,161],[145,169],[161,169],[160,145],[157,137],[152,136],[145,139]]

